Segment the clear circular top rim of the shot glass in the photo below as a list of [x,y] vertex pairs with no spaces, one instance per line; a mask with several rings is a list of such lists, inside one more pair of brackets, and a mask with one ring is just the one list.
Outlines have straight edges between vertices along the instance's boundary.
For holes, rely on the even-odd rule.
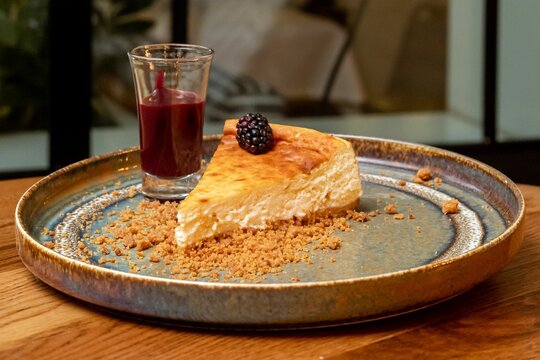
[[[163,52],[164,50],[180,50],[180,49],[192,51],[197,56],[194,56],[192,58],[180,58],[180,57],[163,58],[163,57],[154,56],[154,54],[156,53],[156,50]],[[128,52],[128,55],[134,59],[142,60],[142,61],[191,62],[191,61],[211,59],[214,56],[214,50],[203,45],[195,45],[195,44],[156,43],[156,44],[145,44],[145,45],[136,46]]]

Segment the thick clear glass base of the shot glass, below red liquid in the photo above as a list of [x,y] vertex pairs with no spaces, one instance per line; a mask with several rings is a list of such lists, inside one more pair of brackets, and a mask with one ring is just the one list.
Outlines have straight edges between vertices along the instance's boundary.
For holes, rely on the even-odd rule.
[[143,171],[142,193],[157,200],[182,200],[201,179],[201,171],[178,178],[161,178]]

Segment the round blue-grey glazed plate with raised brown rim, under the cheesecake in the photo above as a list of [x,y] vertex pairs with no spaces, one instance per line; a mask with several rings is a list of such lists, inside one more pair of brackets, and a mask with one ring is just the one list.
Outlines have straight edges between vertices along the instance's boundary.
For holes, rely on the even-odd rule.
[[[75,163],[33,185],[16,209],[18,253],[50,286],[128,315],[207,328],[297,329],[374,320],[441,302],[493,275],[518,250],[524,200],[499,171],[434,147],[342,137],[352,142],[363,175],[360,210],[392,202],[415,219],[381,215],[367,227],[356,225],[332,253],[335,265],[328,265],[324,254],[314,255],[313,265],[294,265],[285,275],[249,284],[177,280],[150,266],[135,274],[121,263],[80,261],[72,250],[84,238],[70,221],[96,198],[125,201],[118,184],[138,184],[137,149]],[[207,158],[217,139],[205,139]],[[424,166],[443,178],[441,186],[411,181]],[[400,180],[407,184],[399,185]],[[118,198],[110,198],[113,190]],[[441,202],[450,197],[460,201],[459,214],[441,213]],[[68,236],[53,251],[43,245],[41,232],[59,225]],[[293,275],[301,281],[291,281]]]

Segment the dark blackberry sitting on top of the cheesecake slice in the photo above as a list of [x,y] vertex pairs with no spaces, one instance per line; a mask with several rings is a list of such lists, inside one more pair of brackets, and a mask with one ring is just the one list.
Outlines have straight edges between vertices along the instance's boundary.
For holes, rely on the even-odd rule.
[[236,140],[242,149],[252,154],[263,154],[274,144],[272,128],[259,113],[248,113],[238,120]]

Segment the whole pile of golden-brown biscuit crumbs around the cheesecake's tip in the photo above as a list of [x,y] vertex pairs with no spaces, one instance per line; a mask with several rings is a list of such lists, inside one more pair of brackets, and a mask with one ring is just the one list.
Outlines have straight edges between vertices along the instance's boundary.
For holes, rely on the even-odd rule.
[[[232,277],[258,281],[269,273],[278,273],[289,263],[311,264],[309,251],[323,252],[341,247],[338,231],[350,231],[348,220],[365,222],[364,212],[348,211],[344,216],[324,216],[275,223],[265,229],[243,229],[207,239],[193,247],[176,246],[176,202],[143,201],[136,209],[110,212],[116,216],[88,236],[101,253],[100,263],[116,262],[124,257],[130,270],[139,269],[131,261],[130,249],[137,258],[163,263],[179,279],[210,278],[227,281]],[[376,215],[376,214],[371,214]],[[221,278],[220,278],[221,273]]]

